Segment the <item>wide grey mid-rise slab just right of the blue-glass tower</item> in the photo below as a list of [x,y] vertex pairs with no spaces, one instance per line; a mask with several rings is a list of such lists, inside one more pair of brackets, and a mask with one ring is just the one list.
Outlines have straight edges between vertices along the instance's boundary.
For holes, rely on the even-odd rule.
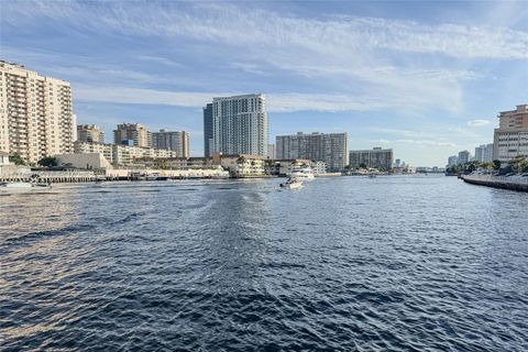
[[275,153],[277,160],[324,162],[327,170],[341,172],[349,163],[348,136],[345,132],[277,135]]

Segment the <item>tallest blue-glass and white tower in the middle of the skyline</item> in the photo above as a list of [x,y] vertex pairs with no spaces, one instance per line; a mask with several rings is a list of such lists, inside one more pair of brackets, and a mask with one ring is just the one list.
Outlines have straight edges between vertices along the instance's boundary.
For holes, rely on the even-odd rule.
[[[204,114],[206,116],[206,110]],[[209,153],[267,154],[268,124],[263,95],[213,98]]]

